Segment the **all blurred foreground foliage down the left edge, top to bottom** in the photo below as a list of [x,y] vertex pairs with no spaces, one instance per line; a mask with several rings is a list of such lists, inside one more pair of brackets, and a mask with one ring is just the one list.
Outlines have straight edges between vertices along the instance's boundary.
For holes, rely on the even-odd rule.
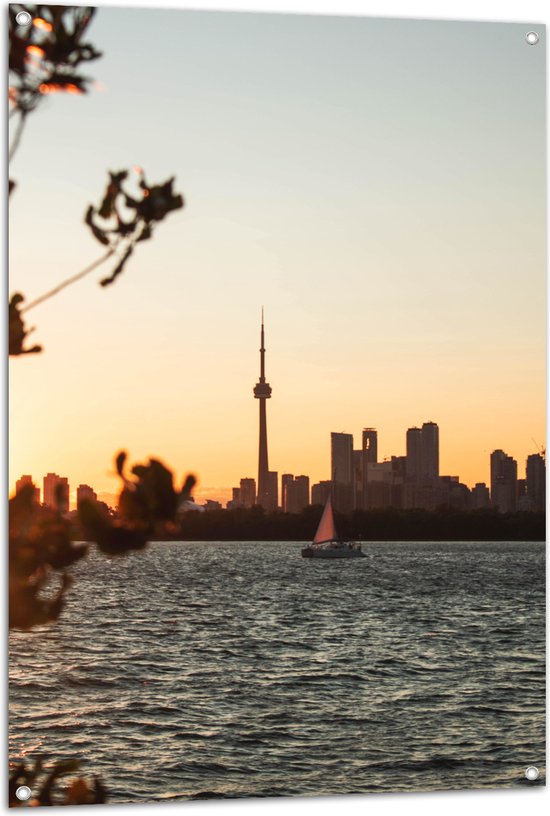
[[[17,14],[26,11],[32,22],[19,25]],[[14,125],[9,160],[19,147],[28,115],[42,100],[53,93],[87,93],[92,82],[81,73],[82,63],[95,60],[100,52],[86,41],[88,27],[95,14],[90,6],[44,6],[13,4],[9,6],[9,105]],[[24,297],[16,293],[9,302],[9,355],[21,356],[42,350],[26,346],[33,331],[25,326],[23,312],[56,295],[66,286],[89,274],[108,258],[116,257],[112,273],[100,281],[107,286],[121,274],[140,241],[151,238],[154,226],[173,210],[184,206],[183,197],[173,190],[174,179],[148,185],[141,169],[135,195],[123,189],[128,172],[109,174],[109,183],[99,207],[90,206],[85,223],[94,237],[107,248],[99,258],[81,272],[65,279],[32,303],[22,306]],[[15,188],[9,180],[9,194]],[[176,490],[172,474],[159,461],[134,466],[125,473],[126,455],[116,459],[122,480],[116,517],[101,502],[81,502],[78,523],[86,538],[99,549],[118,555],[141,549],[156,535],[169,535],[176,525],[178,509],[189,498],[195,483],[188,476]],[[71,585],[70,567],[88,552],[87,545],[73,544],[74,527],[64,515],[61,495],[57,506],[43,507],[35,500],[33,485],[25,485],[11,500],[9,507],[9,621],[10,628],[29,630],[55,621],[63,608],[65,594]],[[31,766],[17,764],[9,779],[9,804],[51,806],[100,804],[106,790],[99,778],[75,775],[79,763],[57,762],[49,770],[38,758]],[[64,786],[61,777],[71,776]],[[29,802],[20,802],[17,788],[28,785],[33,792]]]

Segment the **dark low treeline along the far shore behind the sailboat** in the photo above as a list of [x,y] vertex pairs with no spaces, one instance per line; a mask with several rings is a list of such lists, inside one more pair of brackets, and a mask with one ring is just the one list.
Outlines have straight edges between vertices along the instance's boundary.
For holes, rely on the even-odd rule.
[[[322,507],[300,514],[266,514],[261,507],[184,514],[172,540],[311,541]],[[428,510],[355,511],[336,516],[340,535],[364,541],[544,541],[544,513],[461,512],[448,507]]]

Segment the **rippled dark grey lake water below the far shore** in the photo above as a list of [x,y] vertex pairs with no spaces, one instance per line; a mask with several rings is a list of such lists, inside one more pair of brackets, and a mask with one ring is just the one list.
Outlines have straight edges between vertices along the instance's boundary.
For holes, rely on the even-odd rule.
[[117,803],[541,784],[544,545],[364,550],[93,552],[10,638],[10,759],[81,757]]

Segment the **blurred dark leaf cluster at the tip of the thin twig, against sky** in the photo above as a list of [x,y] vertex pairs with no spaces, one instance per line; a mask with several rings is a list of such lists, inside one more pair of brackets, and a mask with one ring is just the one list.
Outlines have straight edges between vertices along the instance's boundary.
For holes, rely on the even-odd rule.
[[135,171],[139,175],[139,197],[123,189],[122,185],[128,179],[127,170],[109,173],[109,183],[101,204],[97,208],[90,205],[86,211],[84,221],[94,238],[113,253],[119,253],[119,261],[112,274],[100,281],[102,286],[116,280],[132,255],[134,245],[152,237],[156,222],[183,207],[183,197],[172,189],[174,178],[150,186],[145,181],[143,170],[135,168]]

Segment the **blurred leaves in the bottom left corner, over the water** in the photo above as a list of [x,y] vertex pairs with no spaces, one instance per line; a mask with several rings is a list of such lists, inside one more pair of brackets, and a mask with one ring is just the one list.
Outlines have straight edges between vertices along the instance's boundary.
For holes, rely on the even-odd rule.
[[[40,807],[55,805],[101,805],[106,801],[107,791],[98,777],[86,779],[74,776],[80,768],[78,760],[69,759],[54,763],[51,770],[44,768],[41,757],[34,765],[21,762],[12,768],[9,777],[10,807]],[[71,776],[61,787],[61,777]],[[27,785],[32,791],[32,798],[20,802],[15,792],[21,785]]]

